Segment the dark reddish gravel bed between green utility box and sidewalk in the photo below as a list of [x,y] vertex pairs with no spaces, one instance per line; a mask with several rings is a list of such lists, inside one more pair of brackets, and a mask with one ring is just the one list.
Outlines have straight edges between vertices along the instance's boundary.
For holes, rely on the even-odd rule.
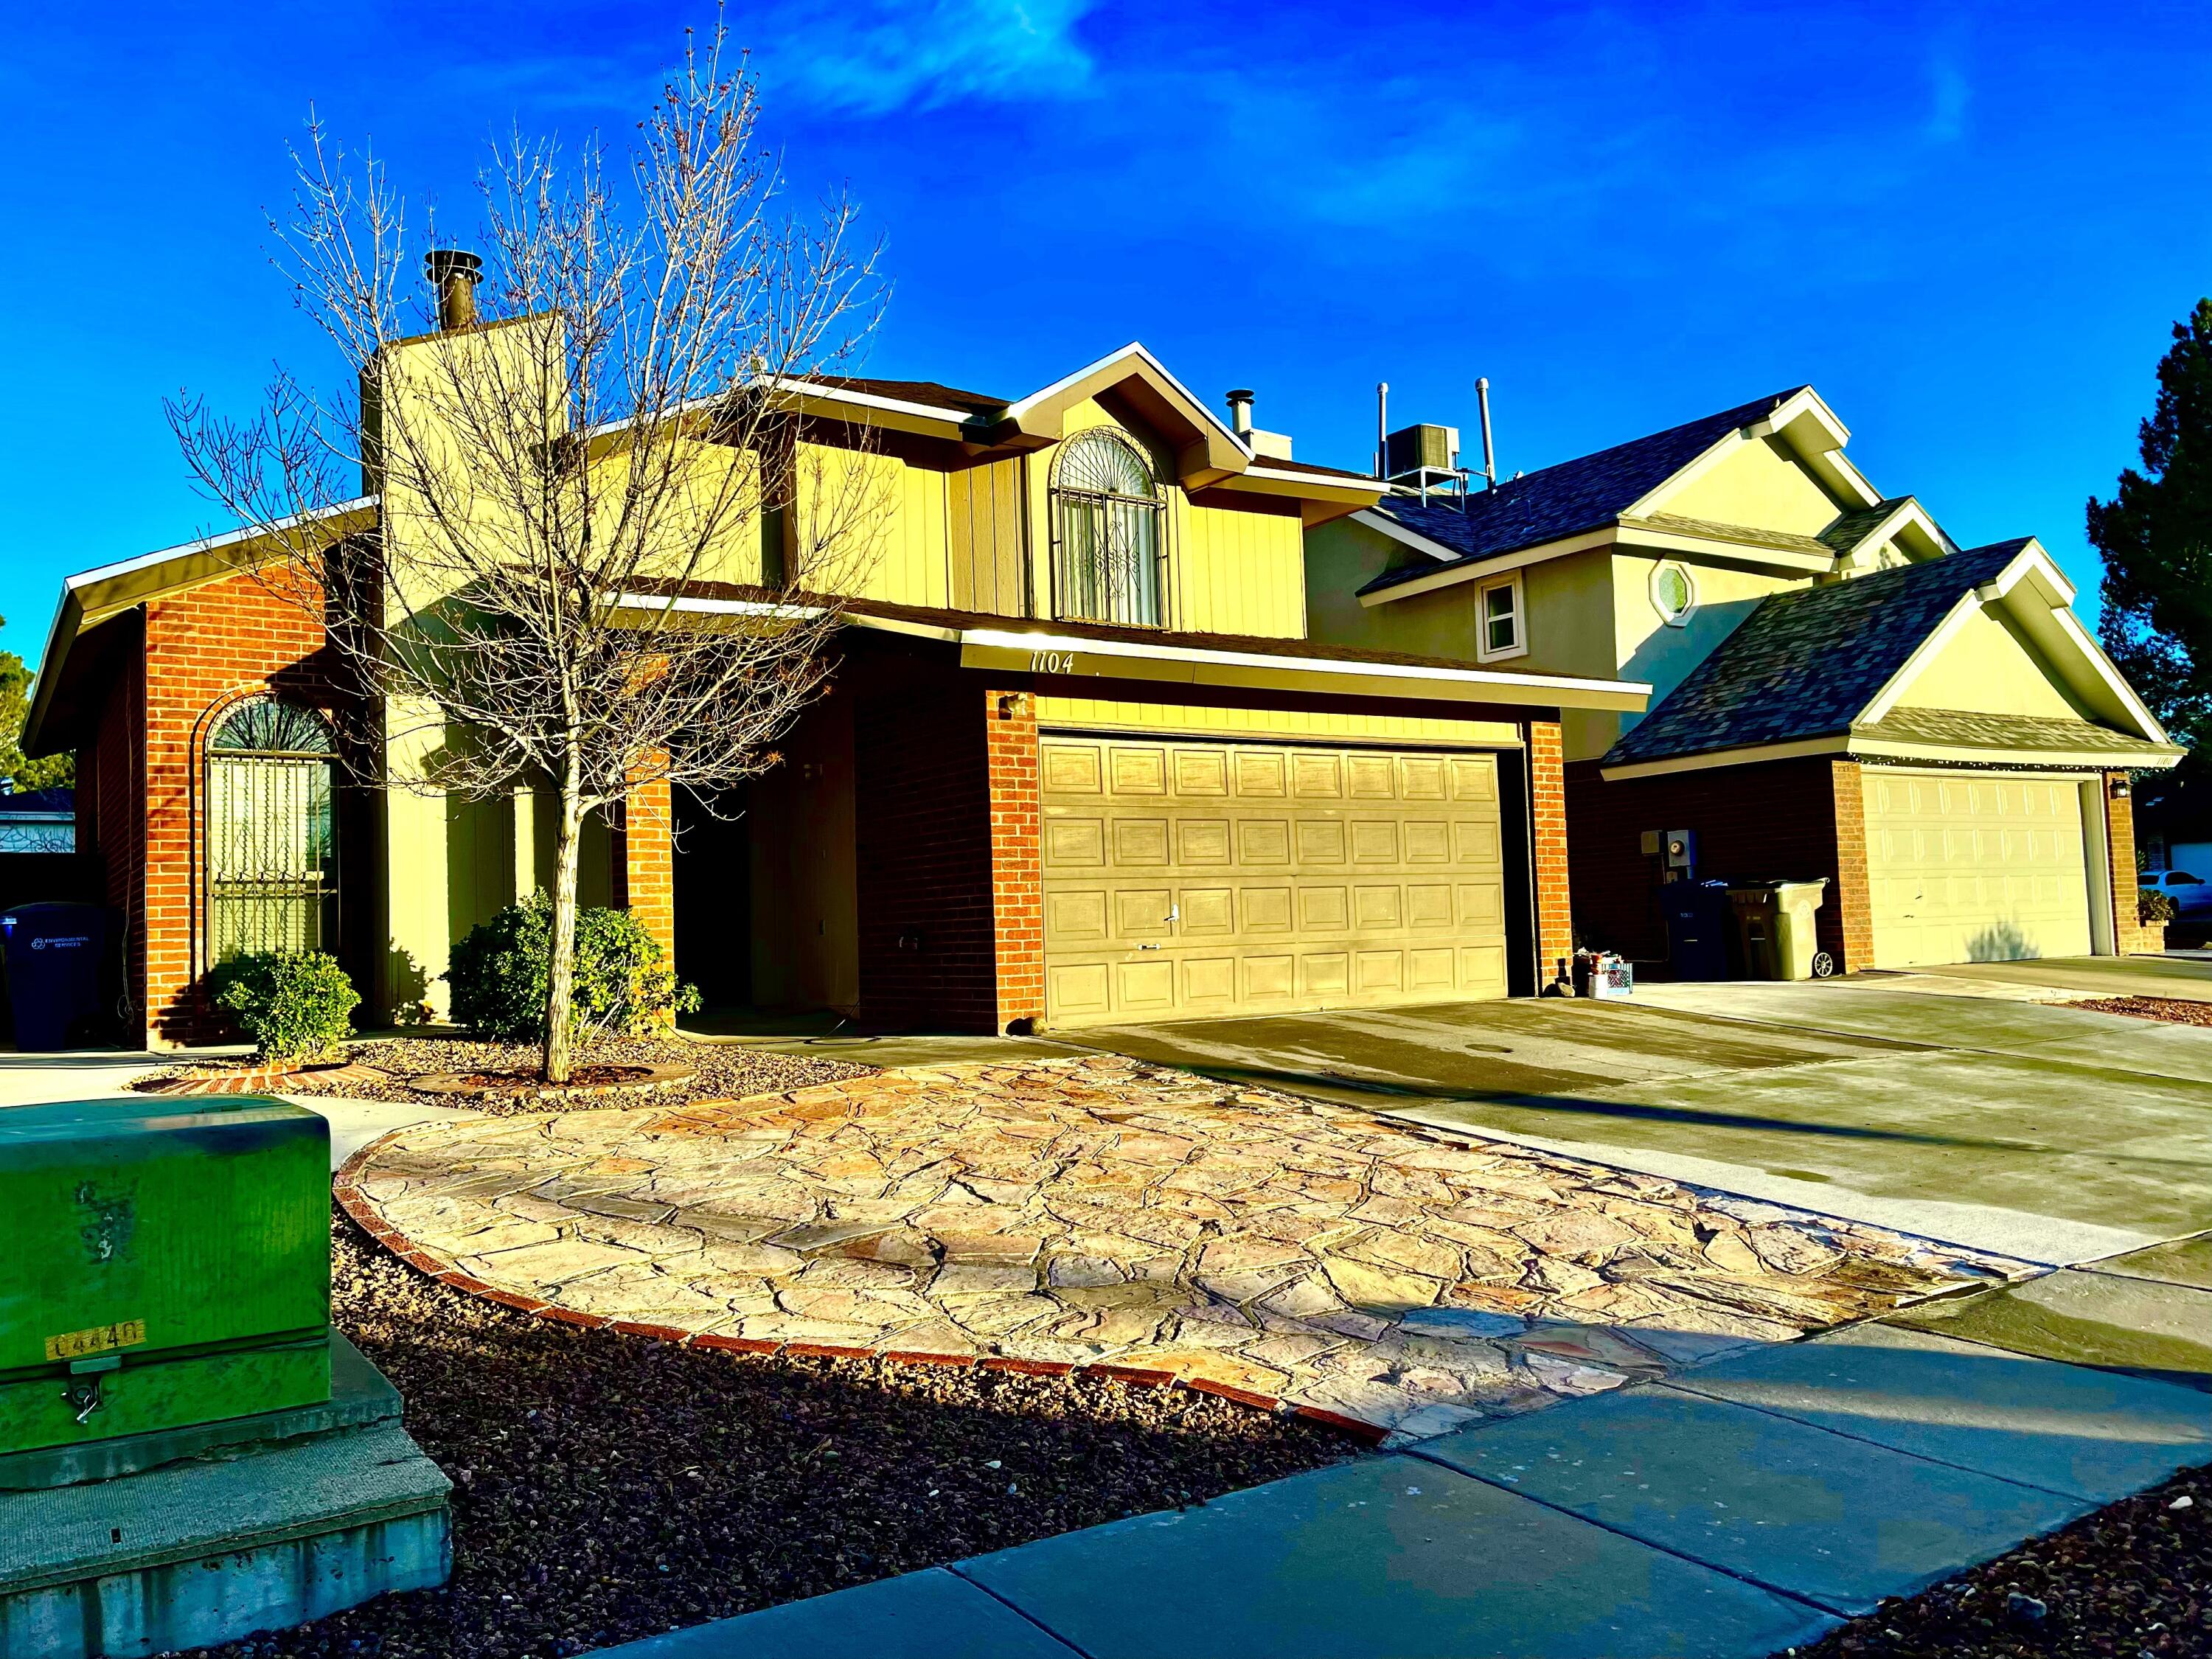
[[1183,1389],[573,1329],[343,1217],[332,1252],[336,1323],[453,1478],[453,1579],[210,1652],[551,1659],[1363,1455]]

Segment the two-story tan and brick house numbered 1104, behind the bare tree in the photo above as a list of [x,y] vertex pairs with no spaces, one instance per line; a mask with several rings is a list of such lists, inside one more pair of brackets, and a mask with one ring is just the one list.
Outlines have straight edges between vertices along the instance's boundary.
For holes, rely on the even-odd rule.
[[[1551,978],[1559,723],[1646,688],[1310,639],[1303,535],[1383,484],[1292,460],[1248,396],[1225,422],[1137,345],[1013,400],[779,396],[896,504],[830,695],[776,770],[719,803],[639,792],[584,865],[586,902],[628,905],[710,1000],[1006,1031]],[[772,593],[790,520],[679,608]],[[319,529],[407,533],[374,493]],[[549,880],[533,790],[349,783],[321,624],[265,557],[217,538],[71,577],[38,677],[24,748],[80,754],[148,1042],[210,1035],[201,975],[252,947],[336,951],[369,1018],[438,1006],[451,942]]]

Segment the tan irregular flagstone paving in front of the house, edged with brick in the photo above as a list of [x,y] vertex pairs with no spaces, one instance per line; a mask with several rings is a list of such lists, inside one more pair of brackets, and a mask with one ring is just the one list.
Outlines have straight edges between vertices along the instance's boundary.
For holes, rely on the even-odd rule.
[[1398,1440],[2026,1272],[1119,1057],[425,1124],[338,1197],[553,1318],[1095,1367]]

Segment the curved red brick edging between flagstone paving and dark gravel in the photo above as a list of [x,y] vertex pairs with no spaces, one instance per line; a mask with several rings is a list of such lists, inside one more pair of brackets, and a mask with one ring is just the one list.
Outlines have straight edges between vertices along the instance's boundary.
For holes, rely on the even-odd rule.
[[1079,1376],[1102,1383],[1121,1383],[1126,1387],[1148,1387],[1148,1389],[1188,1389],[1190,1394],[1212,1394],[1221,1400],[1234,1400],[1237,1405],[1248,1405],[1256,1411],[1270,1411],[1274,1416],[1305,1418],[1307,1422],[1318,1422],[1327,1429],[1349,1433],[1352,1438],[1376,1447],[1387,1436],[1389,1429],[1376,1422],[1360,1422],[1358,1418],[1347,1418],[1340,1411],[1325,1411],[1318,1405],[1292,1405],[1272,1394],[1256,1394],[1252,1389],[1239,1389],[1230,1383],[1214,1383],[1210,1378],[1186,1378],[1181,1371],[1168,1371],[1148,1365],[1117,1365],[1113,1360],[1095,1360],[1091,1365],[1075,1365],[1071,1360],[1022,1360],[1009,1354],[925,1354],[916,1349],[896,1347],[845,1347],[836,1343],[770,1343],[757,1336],[717,1336],[712,1332],[686,1332],[675,1325],[653,1325],[635,1318],[611,1318],[606,1314],[584,1314],[573,1307],[562,1307],[560,1303],[549,1303],[542,1296],[518,1296],[511,1290],[498,1290],[487,1285],[473,1274],[465,1274],[451,1259],[438,1254],[436,1250],[425,1250],[405,1232],[385,1221],[376,1206],[369,1203],[358,1186],[361,1170],[367,1168],[369,1159],[400,1135],[409,1135],[422,1128],[420,1124],[409,1124],[407,1128],[394,1128],[378,1135],[374,1141],[356,1150],[338,1172],[330,1179],[332,1197],[338,1208],[345,1210],[347,1219],[354,1221],[363,1232],[367,1232],[376,1243],[389,1250],[394,1256],[405,1261],[416,1272],[427,1279],[436,1279],[440,1285],[451,1285],[453,1290],[469,1292],[471,1296],[482,1296],[500,1307],[513,1307],[518,1314],[531,1314],[533,1318],[555,1321],[560,1325],[575,1325],[577,1329],[611,1329],[622,1336],[644,1336],[655,1343],[675,1343],[677,1347],[697,1347],[717,1354],[757,1354],[757,1356],[790,1356],[790,1358],[823,1358],[823,1360],[885,1360],[889,1365],[940,1365],[951,1369],[980,1369],[980,1371],[1015,1371],[1020,1376]]

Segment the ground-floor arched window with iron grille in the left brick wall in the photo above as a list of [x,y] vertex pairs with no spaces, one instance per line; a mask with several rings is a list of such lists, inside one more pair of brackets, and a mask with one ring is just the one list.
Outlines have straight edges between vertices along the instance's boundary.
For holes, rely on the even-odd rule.
[[208,739],[208,962],[338,938],[336,745],[312,708],[252,697]]

